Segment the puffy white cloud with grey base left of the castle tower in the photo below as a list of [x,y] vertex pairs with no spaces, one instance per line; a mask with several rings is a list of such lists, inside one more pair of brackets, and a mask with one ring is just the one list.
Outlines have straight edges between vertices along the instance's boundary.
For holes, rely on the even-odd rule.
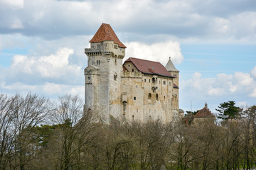
[[70,64],[70,56],[74,50],[61,48],[55,54],[47,56],[15,55],[11,60],[11,66],[6,69],[6,84],[19,81],[25,84],[41,84],[45,81],[57,84],[80,84],[82,68],[76,64]]

